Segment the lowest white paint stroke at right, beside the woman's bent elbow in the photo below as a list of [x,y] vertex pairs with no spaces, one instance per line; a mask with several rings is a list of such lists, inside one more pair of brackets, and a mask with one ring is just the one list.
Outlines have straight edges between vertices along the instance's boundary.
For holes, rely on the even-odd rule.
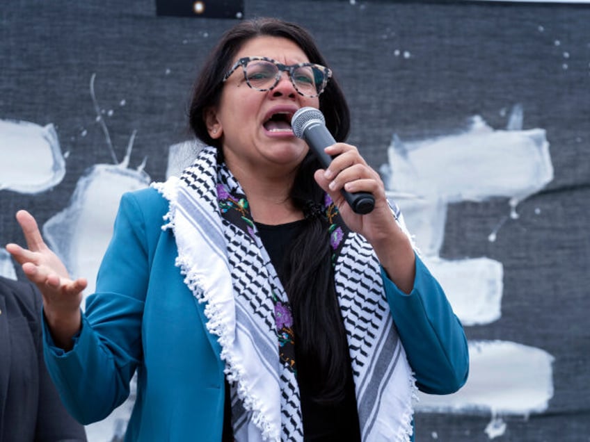
[[416,409],[429,412],[496,416],[540,413],[553,397],[554,358],[539,348],[509,341],[469,343],[470,373],[452,395],[419,393]]

